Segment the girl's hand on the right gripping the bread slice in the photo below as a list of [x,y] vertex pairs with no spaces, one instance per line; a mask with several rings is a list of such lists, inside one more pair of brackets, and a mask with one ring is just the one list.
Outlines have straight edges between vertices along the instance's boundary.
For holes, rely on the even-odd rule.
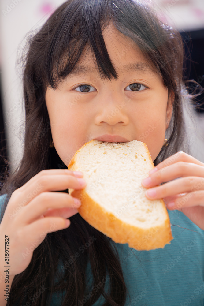
[[179,151],[150,170],[142,186],[150,188],[148,199],[164,199],[169,210],[182,211],[204,230],[204,163]]

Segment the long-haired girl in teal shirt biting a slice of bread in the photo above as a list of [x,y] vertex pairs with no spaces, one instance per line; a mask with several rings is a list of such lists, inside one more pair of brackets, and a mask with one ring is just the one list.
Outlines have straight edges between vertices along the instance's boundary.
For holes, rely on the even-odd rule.
[[[133,0],[66,1],[29,39],[24,154],[1,190],[2,306],[203,305],[204,164],[182,151],[183,53]],[[86,182],[67,166],[102,136],[147,144],[156,168],[142,185],[176,225],[165,248],[114,243],[77,213],[68,188]]]

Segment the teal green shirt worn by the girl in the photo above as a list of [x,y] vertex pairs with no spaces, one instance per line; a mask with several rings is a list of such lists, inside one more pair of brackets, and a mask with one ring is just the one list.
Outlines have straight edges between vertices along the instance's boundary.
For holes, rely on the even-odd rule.
[[[4,197],[0,197],[0,205]],[[204,306],[204,231],[182,212],[168,210],[168,213],[173,240],[165,248],[136,251],[128,244],[114,243],[131,297],[130,300],[127,297],[125,306]],[[63,267],[59,264],[59,268]],[[88,264],[87,280],[90,276]],[[101,297],[93,306],[104,302]],[[53,295],[51,306],[56,305],[61,303]]]

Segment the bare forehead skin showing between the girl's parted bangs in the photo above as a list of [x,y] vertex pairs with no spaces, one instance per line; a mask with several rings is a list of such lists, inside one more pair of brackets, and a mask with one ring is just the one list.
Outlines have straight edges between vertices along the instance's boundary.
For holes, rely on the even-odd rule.
[[[103,30],[105,47],[115,70],[119,73],[149,73],[155,75],[158,69],[147,61],[138,45],[129,37],[119,32],[115,27],[109,25]],[[101,56],[101,60],[104,58]],[[75,77],[80,74],[95,75],[98,73],[93,50],[87,44],[81,58],[69,76]]]

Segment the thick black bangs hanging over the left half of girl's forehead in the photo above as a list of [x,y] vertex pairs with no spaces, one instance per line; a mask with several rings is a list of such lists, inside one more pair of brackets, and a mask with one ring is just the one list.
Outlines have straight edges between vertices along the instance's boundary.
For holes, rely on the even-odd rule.
[[[108,1],[68,1],[65,2],[63,19],[57,18],[56,10],[47,21],[45,26],[49,27],[50,40],[45,50],[47,65],[43,66],[46,67],[46,83],[53,89],[73,71],[82,53],[90,49],[100,77],[117,79],[117,72],[109,58],[102,35],[103,21],[108,24],[111,19],[103,8],[107,3]],[[102,21],[100,18],[105,16],[103,13],[106,20]],[[53,29],[50,24],[55,24]]]

